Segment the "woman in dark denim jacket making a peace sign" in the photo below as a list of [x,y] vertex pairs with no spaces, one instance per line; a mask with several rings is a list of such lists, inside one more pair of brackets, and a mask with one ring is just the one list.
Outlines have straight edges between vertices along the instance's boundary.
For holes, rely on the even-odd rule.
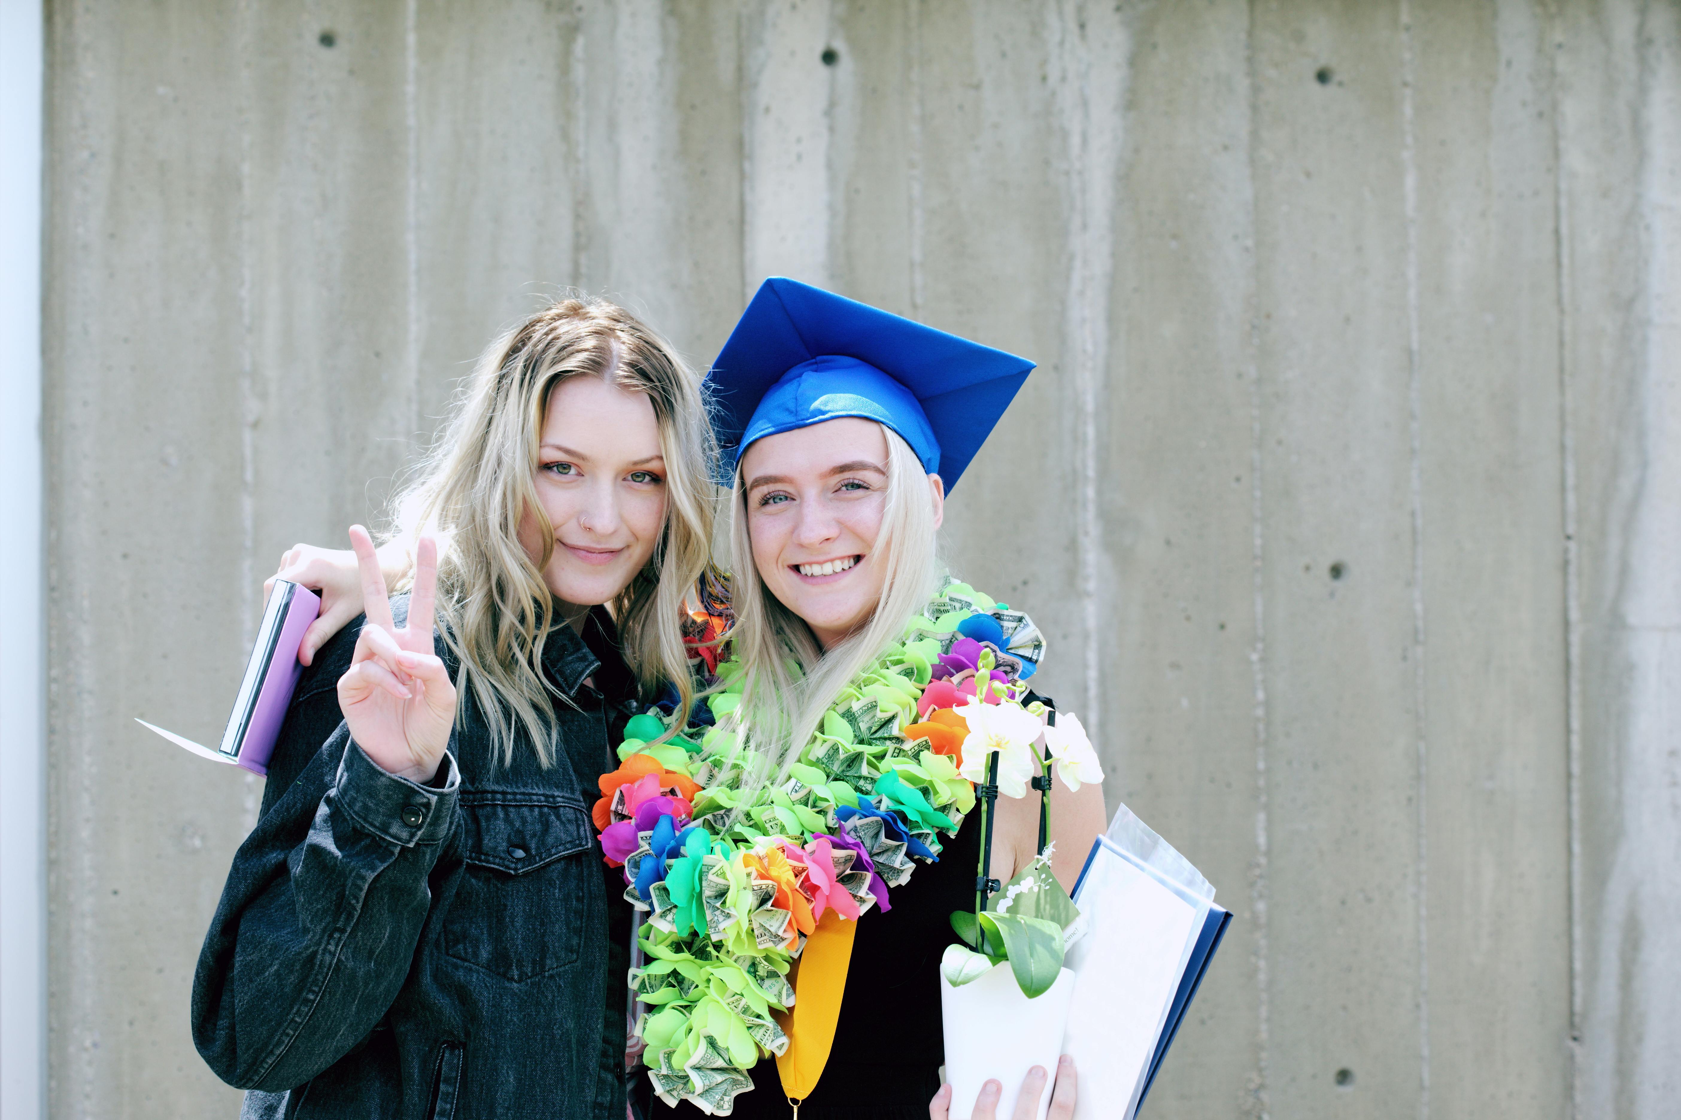
[[689,702],[708,460],[694,373],[565,301],[486,351],[403,500],[412,596],[351,531],[368,613],[311,633],[193,982],[244,1117],[625,1115],[630,913],[588,806],[639,697]]

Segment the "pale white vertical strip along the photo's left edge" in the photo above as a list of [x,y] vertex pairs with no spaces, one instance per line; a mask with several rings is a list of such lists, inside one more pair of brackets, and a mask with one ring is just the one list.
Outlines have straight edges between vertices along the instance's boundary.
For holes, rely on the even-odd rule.
[[0,0],[0,1117],[47,1110],[42,0]]

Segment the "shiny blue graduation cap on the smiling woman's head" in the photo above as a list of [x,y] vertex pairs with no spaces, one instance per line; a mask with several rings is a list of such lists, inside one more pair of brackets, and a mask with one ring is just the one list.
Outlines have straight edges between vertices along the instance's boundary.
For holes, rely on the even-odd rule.
[[950,492],[1032,368],[1002,349],[772,277],[706,374],[719,484],[733,482],[741,452],[767,435],[862,416],[899,433]]

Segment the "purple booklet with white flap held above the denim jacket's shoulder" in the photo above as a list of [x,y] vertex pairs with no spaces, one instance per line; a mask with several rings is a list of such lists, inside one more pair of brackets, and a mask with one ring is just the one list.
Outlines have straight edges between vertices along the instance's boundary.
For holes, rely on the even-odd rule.
[[244,766],[254,774],[267,774],[274,741],[281,735],[292,690],[298,688],[298,678],[304,672],[298,663],[298,646],[303,645],[304,631],[319,613],[321,599],[314,591],[286,579],[274,581],[262,611],[262,625],[257,628],[257,641],[250,650],[250,660],[245,662],[245,677],[239,683],[234,712],[227,717],[220,751],[198,746],[146,720],[138,722],[193,754]]

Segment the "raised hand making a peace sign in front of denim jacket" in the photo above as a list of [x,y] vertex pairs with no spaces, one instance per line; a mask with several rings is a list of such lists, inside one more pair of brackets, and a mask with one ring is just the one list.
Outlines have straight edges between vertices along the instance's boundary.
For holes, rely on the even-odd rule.
[[456,685],[432,652],[432,604],[437,591],[437,542],[415,546],[415,586],[408,625],[392,621],[392,601],[373,541],[361,526],[350,527],[361,573],[368,621],[356,638],[350,670],[338,678],[338,707],[350,734],[387,774],[429,782],[456,724]]

